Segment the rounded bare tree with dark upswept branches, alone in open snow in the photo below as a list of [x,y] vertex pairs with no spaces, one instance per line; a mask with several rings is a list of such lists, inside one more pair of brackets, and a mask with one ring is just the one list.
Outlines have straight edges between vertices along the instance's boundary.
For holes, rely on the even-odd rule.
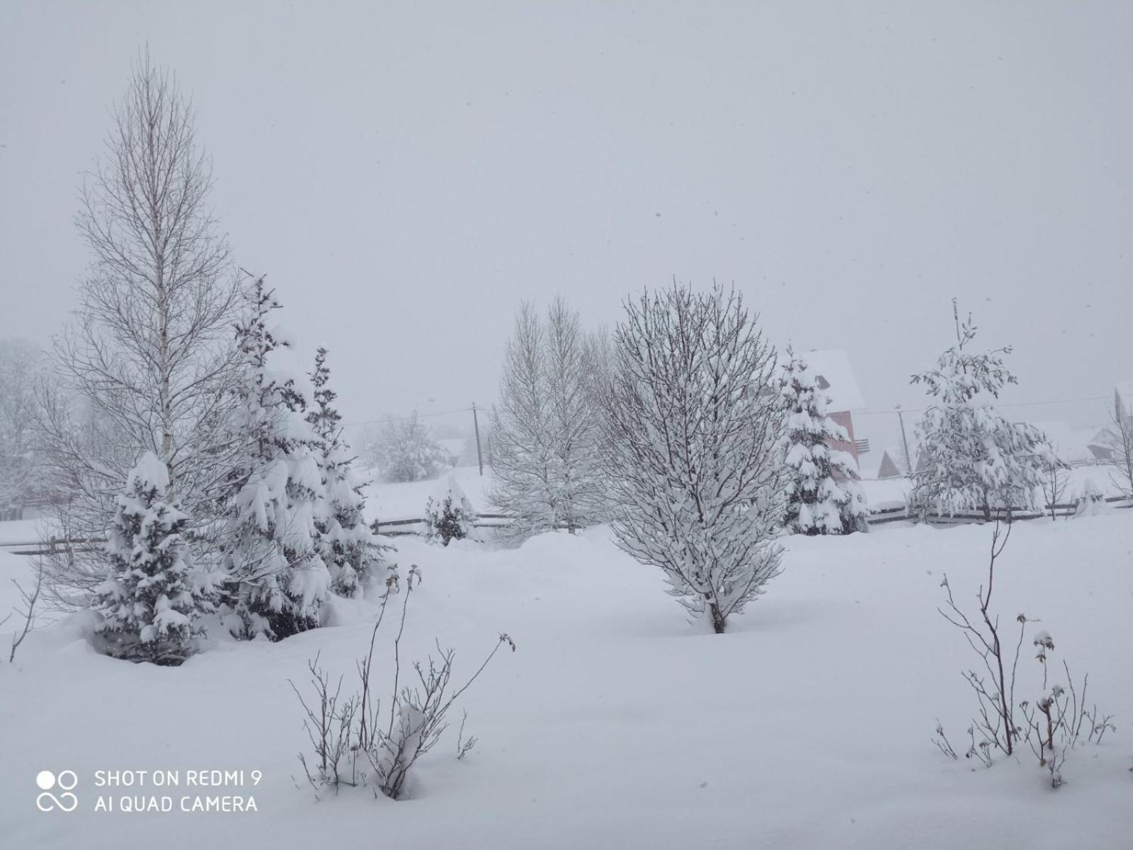
[[780,572],[775,352],[739,292],[627,301],[614,333],[606,466],[617,545],[721,634]]

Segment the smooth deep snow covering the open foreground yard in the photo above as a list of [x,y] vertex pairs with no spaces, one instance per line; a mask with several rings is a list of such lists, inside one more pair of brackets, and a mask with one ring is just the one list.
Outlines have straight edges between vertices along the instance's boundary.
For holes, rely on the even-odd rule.
[[[280,644],[220,643],[180,669],[96,655],[60,622],[0,663],[0,847],[1128,848],[1133,511],[1019,524],[1000,562],[994,607],[1041,618],[1053,657],[1089,671],[1090,702],[1117,715],[1116,734],[1072,754],[1057,791],[1029,753],[973,771],[929,740],[939,717],[960,746],[973,707],[960,678],[971,651],[936,613],[942,576],[969,601],[989,537],[898,525],[790,538],[784,575],[723,636],[685,623],[659,571],[603,528],[514,551],[400,539],[398,561],[424,573],[409,655],[436,636],[458,648],[461,679],[499,631],[518,651],[463,698],[476,749],[458,762],[450,730],[399,802],[350,789],[316,801],[296,758],[288,680],[304,682],[318,653],[349,683],[369,604],[340,604],[339,626]],[[0,553],[6,572],[22,563]],[[1020,689],[1037,695],[1031,653],[1020,664]],[[185,787],[187,771],[212,768],[263,779]],[[77,810],[36,810],[44,770],[77,774]],[[182,785],[99,789],[99,770],[176,770]],[[174,810],[97,813],[99,793],[168,793]],[[258,810],[177,810],[196,793],[253,794]]]

